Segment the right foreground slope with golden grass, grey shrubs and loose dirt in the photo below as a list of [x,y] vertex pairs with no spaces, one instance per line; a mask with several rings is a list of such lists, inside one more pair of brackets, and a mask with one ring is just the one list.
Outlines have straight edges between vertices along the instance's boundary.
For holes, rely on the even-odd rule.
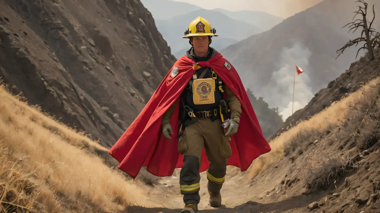
[[252,187],[247,200],[253,202],[239,207],[268,213],[379,212],[379,80],[272,141],[272,151],[245,173]]

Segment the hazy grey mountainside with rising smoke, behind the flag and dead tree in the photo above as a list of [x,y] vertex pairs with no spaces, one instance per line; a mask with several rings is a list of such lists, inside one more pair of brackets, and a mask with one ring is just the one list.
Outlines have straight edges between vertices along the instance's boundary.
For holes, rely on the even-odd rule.
[[[371,6],[368,10],[370,19],[372,5],[375,3],[375,8],[378,8],[378,1],[366,2]],[[296,78],[297,110],[356,60],[359,46],[351,47],[338,59],[335,58],[336,50],[360,33],[348,33],[347,27],[342,29],[352,21],[358,5],[354,0],[325,0],[285,19],[271,30],[239,41],[221,52],[237,68],[243,83],[255,95],[263,96],[270,107],[278,106],[280,112],[290,107],[288,111],[291,114],[289,103],[292,100],[295,64],[304,70]],[[378,19],[373,26],[378,28]],[[361,55],[363,52],[359,52]]]

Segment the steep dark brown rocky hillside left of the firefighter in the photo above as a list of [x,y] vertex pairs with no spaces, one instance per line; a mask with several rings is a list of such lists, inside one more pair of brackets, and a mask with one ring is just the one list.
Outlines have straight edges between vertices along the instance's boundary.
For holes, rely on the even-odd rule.
[[176,60],[140,1],[0,2],[0,77],[112,146]]

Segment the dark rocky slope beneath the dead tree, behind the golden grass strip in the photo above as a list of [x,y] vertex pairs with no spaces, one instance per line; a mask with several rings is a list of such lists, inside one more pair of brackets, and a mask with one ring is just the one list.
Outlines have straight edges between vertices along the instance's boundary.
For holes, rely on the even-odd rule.
[[330,106],[332,102],[339,101],[348,94],[357,91],[361,85],[379,76],[380,48],[375,49],[374,54],[374,60],[370,61],[367,57],[361,57],[360,60],[352,63],[346,72],[330,81],[328,86],[318,91],[304,108],[295,111],[292,116],[280,124],[277,130],[269,137],[269,140],[277,137],[277,135],[286,131],[288,127],[294,126],[297,122],[309,119],[310,116]]

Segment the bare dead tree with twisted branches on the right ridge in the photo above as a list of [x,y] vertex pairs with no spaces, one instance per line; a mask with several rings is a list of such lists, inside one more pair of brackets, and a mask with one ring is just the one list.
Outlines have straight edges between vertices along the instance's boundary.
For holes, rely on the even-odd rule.
[[339,52],[339,54],[335,59],[337,59],[340,56],[340,54],[343,54],[343,51],[346,48],[353,46],[353,45],[358,46],[358,44],[361,41],[365,41],[366,43],[364,43],[364,45],[358,49],[358,52],[356,52],[355,59],[358,57],[359,51],[361,49],[363,49],[363,50],[367,49],[369,59],[374,60],[375,57],[374,57],[374,51],[373,50],[376,46],[380,46],[380,33],[376,32],[376,30],[374,28],[372,28],[372,24],[375,20],[375,5],[372,6],[372,11],[373,11],[374,17],[372,18],[372,21],[369,21],[367,19],[368,3],[364,2],[364,0],[358,0],[356,2],[363,3],[364,6],[358,6],[359,10],[354,12],[355,16],[353,17],[352,20],[354,20],[357,15],[360,15],[361,18],[355,19],[355,21],[350,22],[350,23],[344,25],[343,27],[350,25],[349,26],[350,30],[348,30],[348,32],[350,32],[351,30],[353,30],[353,32],[355,32],[359,27],[362,27],[361,36],[359,38],[355,38],[354,40],[348,41],[346,45],[344,45],[342,48],[338,49],[336,52],[337,53]]

